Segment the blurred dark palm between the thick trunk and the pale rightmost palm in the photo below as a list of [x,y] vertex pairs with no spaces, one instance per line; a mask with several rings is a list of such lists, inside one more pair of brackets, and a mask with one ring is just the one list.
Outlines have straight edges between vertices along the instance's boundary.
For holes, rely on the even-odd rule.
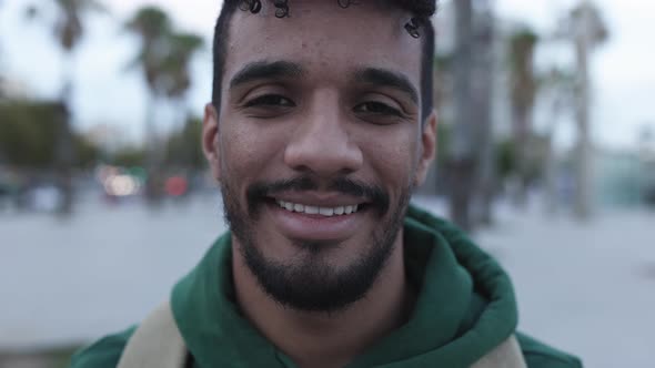
[[528,144],[532,136],[532,115],[537,91],[534,71],[534,50],[537,42],[537,34],[526,27],[510,37],[512,132],[518,181],[514,203],[521,207],[525,205],[528,185]]

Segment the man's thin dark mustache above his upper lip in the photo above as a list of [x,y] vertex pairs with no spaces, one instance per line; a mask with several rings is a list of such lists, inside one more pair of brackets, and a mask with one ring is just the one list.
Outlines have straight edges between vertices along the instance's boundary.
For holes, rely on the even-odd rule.
[[[323,188],[321,183],[312,176],[299,176],[275,182],[258,182],[246,190],[248,207],[251,214],[256,213],[260,205],[269,197],[283,192],[308,192]],[[366,201],[381,213],[389,209],[390,196],[379,185],[367,184],[361,181],[337,177],[324,187],[330,192],[336,192]]]

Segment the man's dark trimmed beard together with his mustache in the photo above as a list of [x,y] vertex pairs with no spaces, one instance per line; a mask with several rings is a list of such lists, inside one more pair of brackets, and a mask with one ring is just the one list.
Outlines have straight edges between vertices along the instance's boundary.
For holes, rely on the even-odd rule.
[[283,307],[313,313],[337,313],[364,298],[394,249],[409,206],[411,187],[401,192],[397,203],[390,205],[389,194],[377,186],[340,178],[331,191],[362,197],[366,211],[381,221],[367,241],[369,247],[360,252],[347,265],[328,262],[324,251],[346,246],[335,242],[303,242],[290,239],[300,253],[289,260],[266,257],[262,249],[266,239],[255,239],[261,208],[270,196],[284,191],[318,190],[309,176],[275,183],[255,183],[246,190],[246,209],[239,205],[239,192],[229,180],[221,183],[224,216],[233,236],[239,239],[239,252],[259,286]]

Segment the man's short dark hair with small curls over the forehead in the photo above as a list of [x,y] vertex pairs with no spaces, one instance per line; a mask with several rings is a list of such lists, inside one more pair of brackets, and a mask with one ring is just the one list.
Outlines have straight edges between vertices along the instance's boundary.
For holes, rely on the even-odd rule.
[[[269,0],[276,8],[275,17],[285,18],[289,16],[288,0]],[[354,0],[335,0],[342,8],[356,4]],[[405,25],[405,30],[414,37],[423,39],[421,55],[421,121],[425,122],[433,109],[433,69],[434,69],[434,25],[431,17],[436,11],[436,0],[385,0],[396,8],[410,11],[414,18]],[[225,59],[228,53],[228,38],[230,20],[236,10],[258,13],[261,10],[261,0],[225,0],[214,28],[213,42],[213,92],[212,104],[216,111],[221,110],[221,85],[225,72]]]

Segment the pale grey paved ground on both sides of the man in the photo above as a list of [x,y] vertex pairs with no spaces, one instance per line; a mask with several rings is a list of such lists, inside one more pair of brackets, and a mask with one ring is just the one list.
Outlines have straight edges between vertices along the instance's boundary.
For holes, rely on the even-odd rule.
[[[443,213],[440,202],[419,202]],[[214,197],[159,213],[91,202],[68,222],[0,214],[0,351],[85,341],[140,320],[224,229],[220,214]],[[654,367],[655,214],[580,225],[501,207],[475,238],[513,276],[523,330],[586,367]]]

